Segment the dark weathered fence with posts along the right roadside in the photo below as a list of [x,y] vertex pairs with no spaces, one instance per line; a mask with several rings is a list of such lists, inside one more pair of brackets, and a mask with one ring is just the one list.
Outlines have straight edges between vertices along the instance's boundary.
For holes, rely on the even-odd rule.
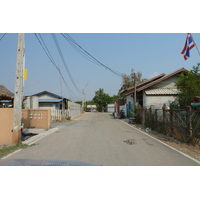
[[182,142],[200,141],[200,110],[137,109],[136,123],[167,134]]

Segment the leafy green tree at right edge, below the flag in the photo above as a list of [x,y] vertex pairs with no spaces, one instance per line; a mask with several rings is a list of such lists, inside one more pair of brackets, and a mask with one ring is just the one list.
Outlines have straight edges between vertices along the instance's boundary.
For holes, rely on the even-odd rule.
[[190,72],[180,74],[176,87],[179,90],[176,100],[181,107],[189,106],[194,96],[200,96],[200,63]]

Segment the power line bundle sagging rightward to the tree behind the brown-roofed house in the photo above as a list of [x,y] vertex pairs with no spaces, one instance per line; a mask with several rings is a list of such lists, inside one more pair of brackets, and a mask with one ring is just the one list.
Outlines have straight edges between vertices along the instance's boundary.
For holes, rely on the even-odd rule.
[[83,47],[81,47],[71,36],[69,36],[69,34],[63,34],[61,33],[61,35],[69,42],[69,44],[75,48],[82,56],[84,56],[86,59],[88,59],[89,61],[104,67],[105,69],[108,69],[109,71],[111,71],[112,73],[114,73],[117,76],[122,76],[122,74],[114,69],[111,69],[110,67],[107,67],[106,65],[104,65],[103,63],[101,63],[99,60],[97,60],[94,56],[92,56],[89,52],[87,52]]

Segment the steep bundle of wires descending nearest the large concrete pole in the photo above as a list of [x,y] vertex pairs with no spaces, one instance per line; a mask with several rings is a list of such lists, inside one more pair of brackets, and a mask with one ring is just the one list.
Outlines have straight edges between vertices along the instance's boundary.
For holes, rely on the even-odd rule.
[[[60,74],[60,76],[61,76],[63,82],[65,83],[65,87],[67,88],[67,90],[68,90],[68,92],[69,92],[69,94],[70,94],[70,97],[73,99],[73,97],[72,97],[73,92],[71,91],[70,87],[68,86],[68,84],[67,84],[66,80],[64,79],[64,77],[63,77],[63,75],[62,75],[60,69],[59,69],[58,66],[56,65],[56,63],[55,63],[53,57],[51,56],[51,54],[50,54],[50,52],[49,52],[49,50],[48,50],[48,48],[47,48],[47,46],[46,46],[46,44],[45,44],[45,42],[44,42],[42,36],[39,34],[39,37],[40,37],[40,39],[42,40],[42,42],[41,42],[41,40],[39,39],[39,37],[37,36],[36,33],[35,33],[35,36],[36,36],[36,38],[37,38],[39,44],[41,45],[42,49],[44,50],[45,54],[47,55],[47,57],[49,58],[49,60],[50,60],[51,63],[53,64],[53,66],[56,67],[56,69],[58,70],[58,72],[59,72],[59,74]],[[74,95],[74,94],[73,94],[73,95]],[[75,96],[75,95],[74,95],[74,96]],[[76,96],[75,96],[75,97],[76,97]],[[76,98],[77,98],[77,97],[76,97]]]

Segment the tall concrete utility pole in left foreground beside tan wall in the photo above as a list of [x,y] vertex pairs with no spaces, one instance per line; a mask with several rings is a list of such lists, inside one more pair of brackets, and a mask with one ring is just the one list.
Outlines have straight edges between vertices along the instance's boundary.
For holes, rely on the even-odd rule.
[[17,61],[15,75],[15,93],[14,93],[14,116],[13,116],[13,132],[19,133],[21,140],[21,118],[22,118],[22,100],[23,100],[23,68],[24,68],[24,33],[18,34]]

